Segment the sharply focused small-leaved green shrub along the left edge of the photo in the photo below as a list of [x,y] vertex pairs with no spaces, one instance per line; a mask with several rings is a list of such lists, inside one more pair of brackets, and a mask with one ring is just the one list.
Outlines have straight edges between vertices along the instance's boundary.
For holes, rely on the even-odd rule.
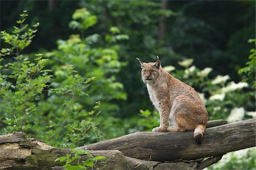
[[[10,48],[3,48],[1,50],[1,56],[14,55],[14,61],[4,63],[1,58],[1,73],[0,73],[0,95],[1,105],[5,106],[5,109],[1,109],[5,116],[5,122],[7,125],[6,131],[34,131],[33,125],[38,124],[37,120],[34,120],[34,115],[38,113],[36,103],[40,100],[40,96],[44,89],[48,87],[51,75],[49,75],[49,69],[45,69],[48,59],[43,59],[43,54],[36,54],[36,58],[30,61],[27,57],[19,54],[20,50],[24,49],[31,43],[32,37],[36,32],[36,27],[39,24],[34,25],[34,31],[31,28],[27,28],[26,24],[23,26],[23,22],[26,19],[26,11],[22,15],[20,27],[14,27],[13,34],[9,34],[2,31],[2,39],[7,44],[10,44]],[[24,32],[22,35],[20,33]],[[15,53],[14,53],[15,51]],[[1,116],[1,118],[3,118]]]

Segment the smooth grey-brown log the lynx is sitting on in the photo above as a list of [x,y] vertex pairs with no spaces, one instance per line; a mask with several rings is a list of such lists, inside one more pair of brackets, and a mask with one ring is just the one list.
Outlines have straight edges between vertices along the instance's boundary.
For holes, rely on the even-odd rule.
[[136,132],[122,137],[81,146],[86,150],[119,150],[125,156],[143,160],[198,159],[255,146],[256,118],[207,128],[201,145],[193,131]]

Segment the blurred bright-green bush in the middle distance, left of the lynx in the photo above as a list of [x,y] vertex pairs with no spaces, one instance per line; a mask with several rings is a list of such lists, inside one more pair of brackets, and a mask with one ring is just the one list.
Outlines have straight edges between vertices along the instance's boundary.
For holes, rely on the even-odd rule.
[[[79,16],[83,17],[79,18]],[[73,19],[69,25],[73,25],[74,22],[77,23],[77,19],[81,19],[80,24],[86,24],[87,19],[95,19],[94,22],[90,22],[91,26],[97,22],[97,18],[90,16],[85,8],[76,10],[73,14]],[[87,29],[87,27],[75,27],[74,25],[71,28],[79,29],[82,35],[85,35]],[[83,78],[93,80],[90,82],[90,86],[86,87],[86,94],[89,97],[76,96],[76,101],[79,101],[81,107],[86,109],[92,109],[94,103],[100,101],[101,116],[94,117],[93,124],[98,125],[105,133],[98,135],[97,138],[101,138],[101,135],[104,138],[117,136],[116,129],[112,132],[109,131],[112,128],[112,124],[114,124],[111,121],[121,122],[117,118],[119,114],[117,101],[126,100],[127,97],[126,93],[123,92],[123,84],[117,80],[116,74],[125,66],[125,63],[119,61],[119,45],[115,43],[127,40],[129,37],[119,34],[120,31],[117,27],[111,27],[109,31],[104,37],[97,33],[84,38],[80,35],[71,35],[68,40],[57,41],[57,50],[46,53],[55,75],[51,83],[53,87],[63,87],[65,83],[72,84],[67,77],[68,65],[73,65],[77,70],[77,74]],[[80,88],[82,89],[82,87]],[[48,103],[57,105],[56,103],[58,102],[57,100],[52,100]],[[52,109],[51,106],[44,108],[48,108],[47,112],[51,113],[51,115],[56,112],[56,109]],[[81,115],[80,118],[82,117]],[[95,133],[99,134],[99,131]],[[95,141],[95,139],[91,141]]]

